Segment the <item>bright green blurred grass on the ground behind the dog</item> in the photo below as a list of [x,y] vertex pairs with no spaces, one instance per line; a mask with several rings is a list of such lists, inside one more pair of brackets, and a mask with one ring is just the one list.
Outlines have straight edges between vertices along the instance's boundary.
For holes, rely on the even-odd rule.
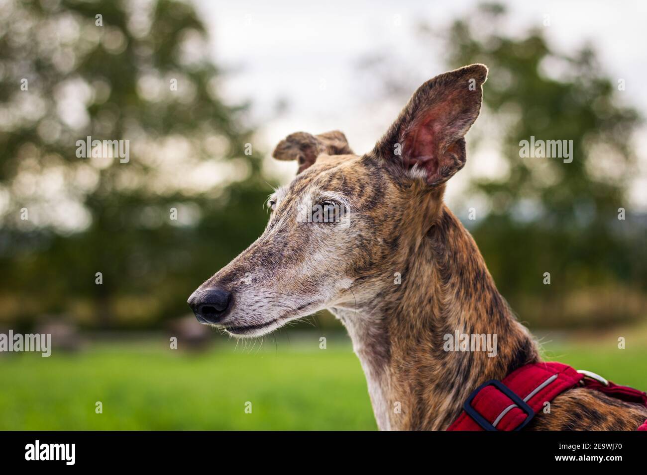
[[[620,333],[621,334],[621,333]],[[168,343],[93,344],[77,354],[0,357],[0,429],[376,428],[360,364],[347,340],[221,343],[204,354]],[[258,346],[258,345],[257,345]],[[544,344],[547,359],[647,389],[647,345],[615,337]],[[95,414],[102,401],[103,414]],[[252,413],[245,413],[245,403]]]

